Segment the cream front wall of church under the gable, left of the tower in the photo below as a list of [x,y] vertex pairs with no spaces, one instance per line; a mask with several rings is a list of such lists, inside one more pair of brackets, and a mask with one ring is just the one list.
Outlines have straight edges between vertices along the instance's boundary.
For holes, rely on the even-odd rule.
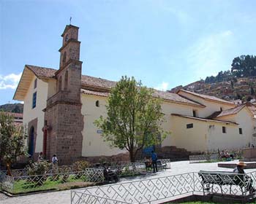
[[[37,141],[35,152],[42,152],[42,139],[43,132],[42,127],[44,126],[45,113],[42,109],[46,107],[46,100],[48,95],[48,84],[40,79],[37,79],[37,87],[34,89],[34,80],[36,76],[31,80],[29,90],[26,93],[23,106],[23,125],[28,127],[29,122],[37,118]],[[37,105],[32,109],[33,94],[37,92]],[[28,130],[29,131],[29,130]]]

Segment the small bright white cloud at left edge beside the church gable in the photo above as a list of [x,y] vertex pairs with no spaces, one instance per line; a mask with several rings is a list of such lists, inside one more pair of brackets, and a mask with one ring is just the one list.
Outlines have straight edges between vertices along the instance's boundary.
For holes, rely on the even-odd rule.
[[0,90],[15,89],[20,81],[21,74],[0,75]]

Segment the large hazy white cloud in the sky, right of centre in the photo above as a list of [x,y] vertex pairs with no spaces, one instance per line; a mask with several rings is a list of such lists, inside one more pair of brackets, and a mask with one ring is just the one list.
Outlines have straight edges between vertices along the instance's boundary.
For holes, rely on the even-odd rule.
[[205,78],[230,68],[230,54],[234,50],[232,31],[222,31],[198,39],[187,50],[187,64],[197,78]]

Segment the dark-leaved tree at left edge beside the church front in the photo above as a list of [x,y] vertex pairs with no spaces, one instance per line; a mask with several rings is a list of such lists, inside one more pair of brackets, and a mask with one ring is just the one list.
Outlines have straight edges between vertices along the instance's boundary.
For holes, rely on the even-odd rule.
[[0,162],[7,165],[8,175],[17,157],[27,155],[26,138],[23,125],[16,125],[12,115],[0,111]]

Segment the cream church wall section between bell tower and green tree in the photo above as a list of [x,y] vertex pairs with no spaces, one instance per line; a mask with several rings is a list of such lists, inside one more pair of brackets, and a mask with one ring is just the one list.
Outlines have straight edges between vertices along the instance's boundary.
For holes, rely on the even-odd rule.
[[[118,148],[110,148],[108,144],[103,141],[100,133],[97,133],[99,128],[94,125],[94,121],[99,119],[102,115],[106,117],[106,100],[105,97],[97,95],[85,95],[81,94],[82,101],[82,115],[83,115],[83,157],[95,157],[95,156],[111,156],[114,154],[127,152]],[[96,101],[99,101],[99,107],[96,106]]]

